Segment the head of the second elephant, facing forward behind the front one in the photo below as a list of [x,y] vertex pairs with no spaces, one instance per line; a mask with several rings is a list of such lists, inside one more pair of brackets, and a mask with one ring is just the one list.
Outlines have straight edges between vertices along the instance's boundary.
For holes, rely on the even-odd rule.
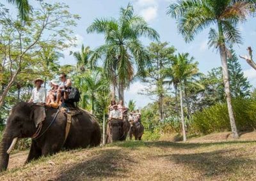
[[109,136],[112,138],[111,141],[118,141],[124,137],[124,122],[123,120],[113,119],[108,122]]

